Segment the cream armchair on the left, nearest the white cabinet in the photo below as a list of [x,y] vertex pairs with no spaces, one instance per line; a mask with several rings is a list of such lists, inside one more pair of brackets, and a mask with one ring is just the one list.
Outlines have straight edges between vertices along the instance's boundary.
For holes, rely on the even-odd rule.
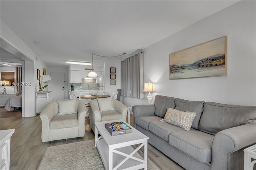
[[[40,119],[42,121],[42,142],[82,137],[85,134],[84,123],[88,108],[86,108],[84,102],[78,99],[59,101],[62,101],[62,103],[63,101],[75,101],[74,113],[58,115],[60,109],[57,101],[48,103],[40,113]],[[64,111],[68,110],[70,109],[64,108]]]

